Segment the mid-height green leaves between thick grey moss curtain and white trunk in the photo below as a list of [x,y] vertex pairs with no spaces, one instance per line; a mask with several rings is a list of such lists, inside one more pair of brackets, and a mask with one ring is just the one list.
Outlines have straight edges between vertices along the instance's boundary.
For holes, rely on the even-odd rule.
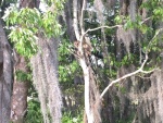
[[74,76],[79,75],[80,67],[72,56],[73,48],[68,40],[63,39],[59,45],[59,81],[60,83],[73,83]]

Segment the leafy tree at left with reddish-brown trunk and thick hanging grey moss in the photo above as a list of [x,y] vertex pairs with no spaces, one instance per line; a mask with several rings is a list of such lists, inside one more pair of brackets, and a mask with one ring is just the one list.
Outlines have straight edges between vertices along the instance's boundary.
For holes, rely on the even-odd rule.
[[[34,9],[38,5],[36,4],[38,1],[21,1],[21,10],[13,5],[5,11],[3,19],[7,24],[10,24],[8,26],[12,26],[9,37],[18,53],[15,67],[16,82],[12,97],[11,115],[13,122],[24,121],[28,91],[28,83],[26,82],[29,77],[27,62],[30,61],[34,85],[38,90],[43,121],[49,123],[51,119],[60,123],[62,98],[57,73],[59,38],[53,36],[57,37],[60,34],[60,24],[57,17],[58,11],[63,8],[62,2],[48,1],[49,8],[45,13]],[[54,30],[53,26],[55,26]]]

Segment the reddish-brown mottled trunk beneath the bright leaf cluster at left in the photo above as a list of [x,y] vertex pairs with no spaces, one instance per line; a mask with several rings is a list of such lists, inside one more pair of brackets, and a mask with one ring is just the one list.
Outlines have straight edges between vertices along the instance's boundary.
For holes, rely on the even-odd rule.
[[[20,8],[35,8],[34,0],[21,0]],[[24,116],[27,110],[27,94],[29,82],[25,76],[18,76],[17,73],[28,74],[29,70],[27,66],[27,61],[23,56],[20,56],[14,52],[14,84],[13,84],[13,94],[12,94],[12,103],[11,103],[11,121],[13,123],[23,123]]]

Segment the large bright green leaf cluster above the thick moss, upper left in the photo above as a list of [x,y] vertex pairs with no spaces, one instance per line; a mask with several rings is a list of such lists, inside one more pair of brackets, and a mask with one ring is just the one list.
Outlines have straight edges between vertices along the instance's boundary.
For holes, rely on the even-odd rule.
[[30,58],[37,52],[39,34],[43,34],[48,38],[61,34],[61,25],[57,19],[60,14],[59,11],[63,9],[61,4],[62,2],[57,2],[55,8],[59,10],[48,10],[46,13],[29,8],[18,10],[15,5],[7,9],[3,20],[7,28],[11,30],[9,38],[14,42],[20,54]]

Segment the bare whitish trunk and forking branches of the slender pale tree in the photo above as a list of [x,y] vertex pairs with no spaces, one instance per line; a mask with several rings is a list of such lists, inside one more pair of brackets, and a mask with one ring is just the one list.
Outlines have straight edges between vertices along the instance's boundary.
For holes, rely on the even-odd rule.
[[[78,16],[77,16],[77,0],[74,0],[73,1],[73,7],[74,7],[74,11],[73,11],[73,14],[74,14],[74,29],[75,29],[75,35],[76,35],[76,38],[77,40],[80,41],[79,44],[79,47],[78,47],[78,51],[80,52],[80,54],[83,54],[83,40],[85,38],[85,35],[89,32],[95,32],[95,30],[98,30],[98,29],[103,29],[103,28],[117,28],[117,27],[123,27],[123,25],[114,25],[114,26],[99,26],[97,28],[89,28],[87,30],[85,30],[85,26],[84,26],[84,12],[85,12],[85,8],[86,8],[86,0],[83,0],[83,8],[82,8],[82,15],[80,15],[80,20],[79,20],[79,27],[78,28]],[[141,24],[143,24],[146,21],[148,21],[150,19],[147,19],[145,20]],[[154,39],[156,37],[156,35],[159,35],[159,33],[156,34],[155,33],[155,36],[152,38]],[[125,79],[127,77],[130,77],[133,75],[136,75],[138,73],[145,73],[145,74],[148,74],[148,73],[151,73],[153,71],[155,71],[155,69],[153,69],[152,71],[143,71],[143,67],[148,61],[148,50],[145,52],[146,53],[146,59],[143,61],[143,63],[141,64],[141,66],[133,72],[133,73],[129,73],[129,74],[126,74],[115,81],[112,81],[108,87],[105,87],[105,89],[102,91],[102,94],[100,95],[100,99],[103,98],[103,96],[105,95],[105,93],[110,89],[110,87],[112,87],[114,84],[121,82],[122,79]],[[86,64],[86,60],[84,57],[79,57],[79,63],[80,63],[80,66],[83,69],[83,72],[84,72],[84,79],[85,79],[85,111],[86,111],[86,115],[87,115],[87,120],[88,120],[88,123],[93,123],[93,113],[92,113],[92,109],[90,107],[90,96],[89,96],[89,93],[90,93],[90,76],[89,76],[89,67],[87,66]]]

